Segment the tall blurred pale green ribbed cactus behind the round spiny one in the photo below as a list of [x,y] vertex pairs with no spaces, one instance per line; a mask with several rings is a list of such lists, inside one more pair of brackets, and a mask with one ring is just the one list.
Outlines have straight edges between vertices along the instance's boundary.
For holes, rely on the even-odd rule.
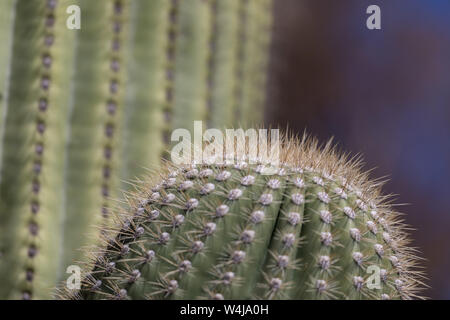
[[[73,4],[80,30],[66,28]],[[262,110],[270,2],[0,7],[0,298],[48,298],[172,129],[259,120],[238,110]]]

